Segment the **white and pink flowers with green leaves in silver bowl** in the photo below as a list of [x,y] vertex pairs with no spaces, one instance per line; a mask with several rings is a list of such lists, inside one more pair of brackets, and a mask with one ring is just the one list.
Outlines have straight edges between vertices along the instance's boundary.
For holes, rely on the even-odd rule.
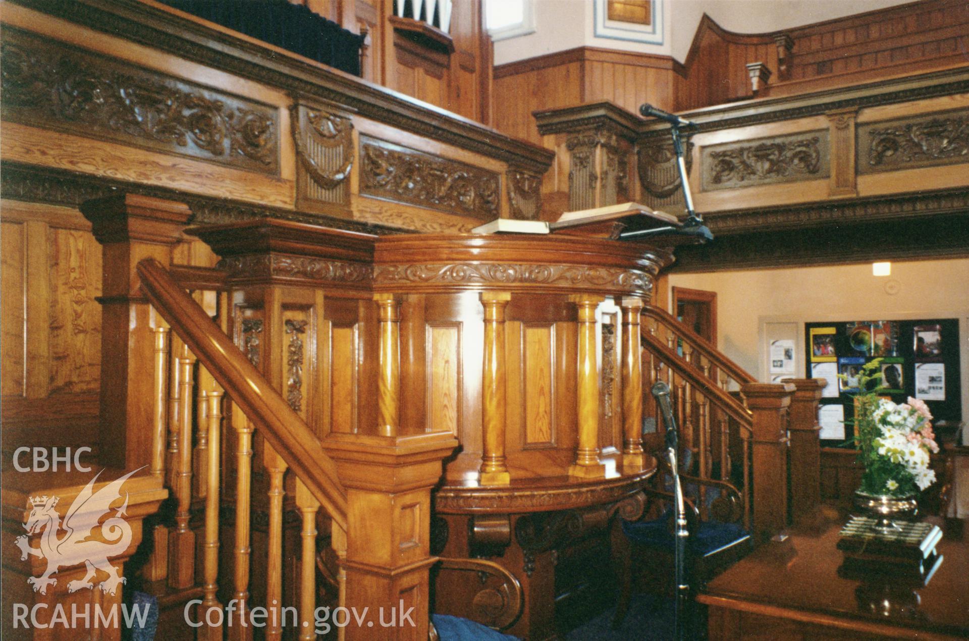
[[855,395],[855,441],[864,467],[860,491],[908,497],[935,482],[929,453],[938,452],[939,446],[924,401],[909,397],[895,404],[878,396],[885,389],[881,361],[875,359],[861,368]]

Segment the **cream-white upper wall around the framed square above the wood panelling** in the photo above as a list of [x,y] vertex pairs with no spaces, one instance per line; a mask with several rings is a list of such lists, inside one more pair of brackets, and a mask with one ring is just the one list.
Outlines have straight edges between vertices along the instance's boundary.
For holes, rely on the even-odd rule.
[[737,33],[765,33],[904,4],[910,0],[661,0],[662,45],[593,35],[592,0],[534,0],[536,32],[494,44],[496,65],[576,47],[672,55],[682,61],[703,13]]

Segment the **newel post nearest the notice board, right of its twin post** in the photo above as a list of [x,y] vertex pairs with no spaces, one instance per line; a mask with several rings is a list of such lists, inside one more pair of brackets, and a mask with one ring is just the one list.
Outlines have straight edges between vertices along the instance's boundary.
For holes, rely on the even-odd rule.
[[791,400],[791,519],[797,521],[821,502],[821,426],[818,401],[824,378],[788,378],[796,390]]

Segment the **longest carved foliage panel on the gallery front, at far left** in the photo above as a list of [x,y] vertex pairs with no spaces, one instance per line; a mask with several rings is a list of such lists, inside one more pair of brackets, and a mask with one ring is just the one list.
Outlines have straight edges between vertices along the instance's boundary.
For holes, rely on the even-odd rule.
[[271,106],[11,27],[0,56],[4,119],[279,174]]

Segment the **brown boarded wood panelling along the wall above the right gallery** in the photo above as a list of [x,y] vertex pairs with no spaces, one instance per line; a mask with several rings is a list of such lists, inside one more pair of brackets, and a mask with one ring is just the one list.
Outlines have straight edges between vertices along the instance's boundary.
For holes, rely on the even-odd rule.
[[[696,110],[752,98],[791,96],[966,64],[969,5],[926,0],[766,34],[736,34],[703,16],[686,60],[574,48],[494,69],[495,127],[540,142],[532,112],[610,101]],[[766,80],[752,89],[748,65]],[[762,76],[763,79],[763,76]],[[568,84],[572,82],[572,84]]]

